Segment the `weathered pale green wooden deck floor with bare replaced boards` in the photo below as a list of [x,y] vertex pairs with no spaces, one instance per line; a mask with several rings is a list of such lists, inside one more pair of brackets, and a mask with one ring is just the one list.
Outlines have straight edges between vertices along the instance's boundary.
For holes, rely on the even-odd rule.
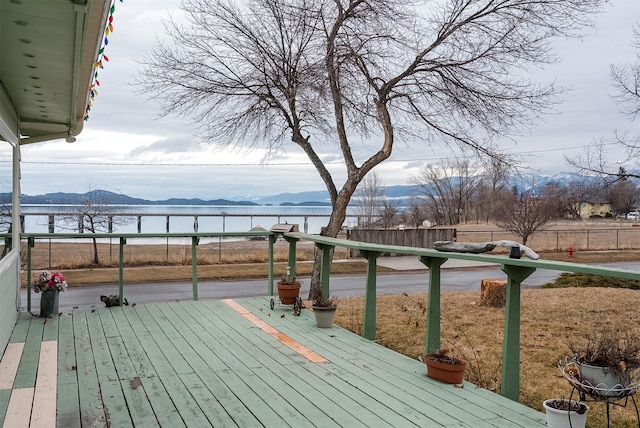
[[540,412],[431,380],[421,362],[312,316],[272,311],[268,298],[76,309],[46,322],[22,313],[0,362],[0,425],[546,426]]

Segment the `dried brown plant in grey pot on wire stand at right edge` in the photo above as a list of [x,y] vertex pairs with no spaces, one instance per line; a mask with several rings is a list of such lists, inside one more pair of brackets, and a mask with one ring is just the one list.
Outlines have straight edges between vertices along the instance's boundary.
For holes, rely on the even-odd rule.
[[590,336],[586,344],[569,344],[582,384],[593,395],[618,396],[632,383],[640,367],[640,337],[606,330]]

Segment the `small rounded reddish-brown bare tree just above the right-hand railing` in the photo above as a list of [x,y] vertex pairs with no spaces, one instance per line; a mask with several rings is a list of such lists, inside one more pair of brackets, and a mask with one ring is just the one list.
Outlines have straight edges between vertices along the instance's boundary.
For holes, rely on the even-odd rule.
[[544,197],[518,195],[511,192],[496,212],[498,226],[513,232],[527,245],[529,237],[553,219],[553,209]]

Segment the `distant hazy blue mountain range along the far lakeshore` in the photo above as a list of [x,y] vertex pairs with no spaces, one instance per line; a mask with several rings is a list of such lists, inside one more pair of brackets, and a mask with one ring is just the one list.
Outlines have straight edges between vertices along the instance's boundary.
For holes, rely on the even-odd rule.
[[[572,181],[578,181],[583,177],[574,173],[559,173],[553,176],[517,176],[508,180],[509,186],[517,188],[520,192],[534,191],[538,192],[543,189],[547,183],[553,182],[560,186],[568,185]],[[416,185],[396,185],[385,186],[385,195],[388,198],[395,199],[400,202],[401,205],[405,205],[406,202],[413,195],[417,194]],[[73,205],[79,201],[86,200],[88,197],[92,197],[94,200],[99,200],[101,203],[114,204],[114,205],[273,205],[273,206],[324,206],[331,205],[329,200],[329,194],[326,190],[298,192],[298,193],[279,193],[277,195],[263,196],[263,197],[247,197],[237,196],[229,199],[211,199],[204,200],[200,198],[170,198],[164,200],[148,200],[142,198],[134,198],[131,196],[110,192],[107,190],[92,190],[83,194],[80,193],[46,193],[44,195],[21,195],[20,201],[22,204],[44,205],[44,204],[60,204],[60,205]],[[0,198],[3,201],[10,201],[10,193],[0,194]]]

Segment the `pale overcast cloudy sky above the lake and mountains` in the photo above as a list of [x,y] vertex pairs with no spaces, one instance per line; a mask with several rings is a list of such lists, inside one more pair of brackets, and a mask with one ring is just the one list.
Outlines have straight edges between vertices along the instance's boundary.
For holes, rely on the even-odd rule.
[[[177,3],[116,2],[114,32],[105,50],[109,62],[100,70],[101,85],[90,119],[74,144],[58,140],[22,148],[22,193],[104,188],[146,199],[214,199],[324,189],[302,153],[290,151],[263,164],[260,150],[215,151],[198,143],[187,121],[159,119],[155,103],[136,95],[132,82],[140,70],[137,61],[158,38],[166,37],[161,21],[179,14]],[[562,61],[540,73],[569,91],[557,114],[503,143],[505,150],[524,161],[523,172],[553,175],[570,171],[563,156],[615,130],[640,130],[640,121],[631,123],[612,101],[608,77],[611,63],[635,58],[632,26],[640,20],[640,2],[613,3],[597,18],[596,28],[585,30],[583,38],[559,40],[556,47]],[[441,156],[450,154],[396,146],[392,158],[375,171],[385,185],[409,184],[422,167],[438,162]],[[294,165],[283,168],[283,162]],[[52,163],[55,174],[51,174]]]

